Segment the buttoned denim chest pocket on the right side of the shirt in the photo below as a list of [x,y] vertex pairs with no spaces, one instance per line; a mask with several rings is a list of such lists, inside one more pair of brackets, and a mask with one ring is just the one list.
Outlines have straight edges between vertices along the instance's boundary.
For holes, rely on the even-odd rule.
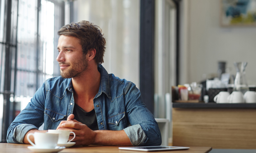
[[107,119],[108,130],[123,130],[125,121],[125,112],[111,115]]

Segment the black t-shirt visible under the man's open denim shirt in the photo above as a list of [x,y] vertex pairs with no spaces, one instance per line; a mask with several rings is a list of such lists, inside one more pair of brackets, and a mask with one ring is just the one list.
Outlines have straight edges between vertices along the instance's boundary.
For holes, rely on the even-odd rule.
[[85,112],[79,105],[74,105],[74,119],[87,125],[91,130],[99,130],[95,109]]

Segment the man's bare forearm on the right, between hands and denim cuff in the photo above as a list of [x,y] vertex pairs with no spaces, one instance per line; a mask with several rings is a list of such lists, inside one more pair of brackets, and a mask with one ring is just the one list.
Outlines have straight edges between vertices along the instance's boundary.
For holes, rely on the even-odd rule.
[[132,146],[130,139],[128,138],[124,130],[121,130],[121,131],[98,130],[94,132],[96,133],[94,145]]

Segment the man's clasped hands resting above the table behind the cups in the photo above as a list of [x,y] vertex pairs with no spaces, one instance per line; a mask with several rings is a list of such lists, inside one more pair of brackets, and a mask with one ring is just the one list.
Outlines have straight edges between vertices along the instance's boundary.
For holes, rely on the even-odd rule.
[[[94,144],[96,132],[88,128],[87,125],[74,119],[74,115],[70,114],[67,121],[61,121],[56,130],[69,130],[75,133],[75,146],[88,146]],[[73,136],[70,136],[69,140]]]

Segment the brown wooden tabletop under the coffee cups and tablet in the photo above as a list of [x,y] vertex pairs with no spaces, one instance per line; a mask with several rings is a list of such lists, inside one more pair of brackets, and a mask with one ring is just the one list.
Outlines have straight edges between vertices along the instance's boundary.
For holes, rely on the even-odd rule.
[[[31,145],[0,143],[1,153],[32,153],[28,149]],[[157,153],[208,153],[211,147],[190,147],[188,150],[158,151]],[[141,151],[119,150],[117,146],[86,146],[66,148],[59,153],[143,153]]]

